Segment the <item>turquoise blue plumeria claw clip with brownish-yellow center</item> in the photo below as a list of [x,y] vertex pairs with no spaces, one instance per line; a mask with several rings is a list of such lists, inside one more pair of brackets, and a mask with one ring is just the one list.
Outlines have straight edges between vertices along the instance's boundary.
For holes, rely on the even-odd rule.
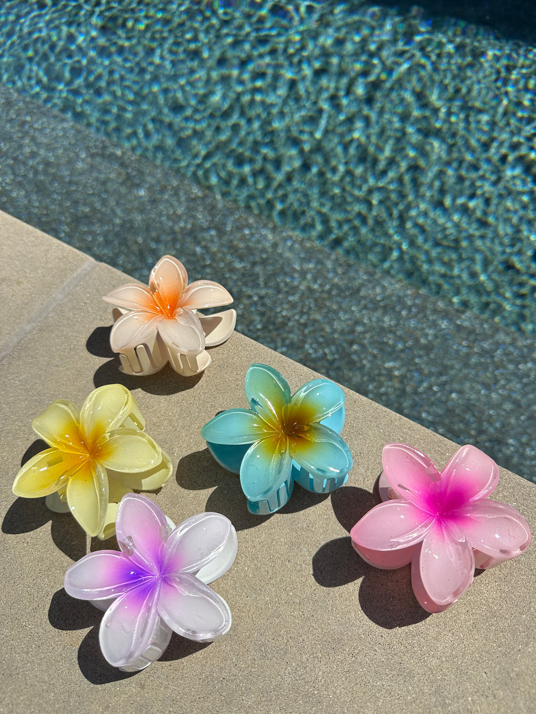
[[344,424],[340,387],[314,379],[292,396],[279,372],[252,364],[246,396],[251,408],[219,413],[201,433],[214,458],[240,474],[251,513],[278,511],[294,481],[313,493],[346,483],[352,456],[339,436]]

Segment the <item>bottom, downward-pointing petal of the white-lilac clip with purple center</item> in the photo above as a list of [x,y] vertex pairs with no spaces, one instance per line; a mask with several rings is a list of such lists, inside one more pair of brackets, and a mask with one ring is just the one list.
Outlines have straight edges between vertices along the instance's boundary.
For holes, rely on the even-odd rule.
[[142,583],[111,603],[99,629],[102,654],[114,667],[131,665],[151,645],[160,625],[158,585]]

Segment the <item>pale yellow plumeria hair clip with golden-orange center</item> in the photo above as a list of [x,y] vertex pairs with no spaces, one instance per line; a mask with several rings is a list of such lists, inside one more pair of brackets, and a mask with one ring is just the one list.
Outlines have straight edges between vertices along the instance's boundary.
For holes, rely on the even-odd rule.
[[89,535],[114,535],[125,493],[152,491],[172,473],[167,454],[143,431],[137,401],[121,384],[91,392],[80,411],[59,399],[32,426],[50,448],[24,464],[14,493],[46,496],[51,511],[71,511]]

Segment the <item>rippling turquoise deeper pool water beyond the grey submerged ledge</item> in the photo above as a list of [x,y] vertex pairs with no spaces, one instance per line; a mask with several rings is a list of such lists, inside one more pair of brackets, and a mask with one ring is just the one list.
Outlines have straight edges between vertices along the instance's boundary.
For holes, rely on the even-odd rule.
[[240,206],[535,332],[535,50],[362,2],[4,2],[0,78]]

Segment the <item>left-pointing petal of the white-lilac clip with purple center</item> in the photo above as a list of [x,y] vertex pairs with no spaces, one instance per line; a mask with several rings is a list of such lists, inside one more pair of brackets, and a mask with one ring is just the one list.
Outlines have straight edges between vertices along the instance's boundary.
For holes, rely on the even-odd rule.
[[65,573],[65,590],[79,600],[116,598],[139,585],[147,571],[118,550],[97,550],[84,555]]

